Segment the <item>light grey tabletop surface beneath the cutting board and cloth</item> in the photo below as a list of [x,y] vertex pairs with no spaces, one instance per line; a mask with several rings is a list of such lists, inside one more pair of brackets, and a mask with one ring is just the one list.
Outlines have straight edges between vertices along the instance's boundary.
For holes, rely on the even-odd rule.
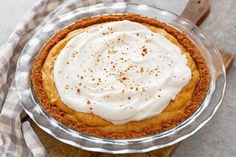
[[[22,16],[38,0],[1,0],[0,45]],[[147,0],[142,0],[145,3]],[[153,1],[152,1],[153,2]],[[187,0],[156,0],[159,7],[180,13]],[[211,13],[201,25],[215,45],[236,56],[236,1],[212,0]],[[183,141],[173,157],[236,156],[236,66],[227,74],[225,98],[213,119],[192,137]]]

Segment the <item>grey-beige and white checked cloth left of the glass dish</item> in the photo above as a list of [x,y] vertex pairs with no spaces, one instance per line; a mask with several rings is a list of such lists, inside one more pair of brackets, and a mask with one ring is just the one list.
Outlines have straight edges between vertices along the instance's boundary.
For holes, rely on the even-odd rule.
[[[30,39],[48,19],[82,6],[116,0],[41,0],[24,16],[8,41],[0,48],[0,156],[41,157],[47,153],[23,112],[16,93],[15,69],[18,57]],[[118,0],[122,1],[122,0]]]

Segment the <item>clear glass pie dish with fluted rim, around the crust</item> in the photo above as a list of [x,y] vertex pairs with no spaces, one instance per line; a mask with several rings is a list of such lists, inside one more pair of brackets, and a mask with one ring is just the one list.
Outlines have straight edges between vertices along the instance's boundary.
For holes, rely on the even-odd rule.
[[[201,50],[209,73],[209,87],[200,107],[185,121],[167,131],[142,138],[107,139],[76,132],[59,123],[37,99],[31,85],[30,75],[35,56],[44,43],[57,31],[85,17],[103,14],[134,13],[156,18],[184,32]],[[174,13],[148,5],[133,3],[101,3],[89,7],[77,8],[71,12],[47,21],[24,47],[16,69],[16,86],[23,108],[30,118],[48,134],[75,147],[104,153],[142,153],[178,143],[193,135],[215,114],[223,99],[226,75],[225,67],[218,50],[199,28]]]

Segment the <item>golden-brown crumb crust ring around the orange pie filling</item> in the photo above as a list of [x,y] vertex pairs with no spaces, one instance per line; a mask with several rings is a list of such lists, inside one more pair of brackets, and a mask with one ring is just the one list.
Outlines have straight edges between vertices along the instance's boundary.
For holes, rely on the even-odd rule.
[[[178,119],[172,119],[171,121],[162,123],[161,126],[150,126],[149,128],[145,128],[143,130],[140,130],[139,132],[123,132],[123,133],[110,133],[110,132],[103,132],[99,131],[96,128],[86,127],[86,125],[83,124],[76,124],[75,122],[71,121],[70,119],[67,119],[63,116],[64,112],[61,111],[56,105],[51,104],[50,100],[48,99],[46,92],[44,91],[44,88],[42,86],[42,74],[41,69],[43,67],[44,61],[54,45],[56,45],[60,40],[64,39],[68,33],[71,31],[78,29],[78,28],[84,28],[88,27],[93,24],[103,23],[103,22],[109,22],[109,21],[120,21],[120,20],[130,20],[140,23],[146,23],[149,25],[153,25],[155,27],[162,28],[166,30],[169,34],[174,36],[177,41],[188,51],[191,55],[191,57],[194,59],[199,73],[200,73],[200,81],[198,86],[195,89],[194,96],[192,98],[191,105],[189,105],[188,108],[186,108],[184,114],[182,116],[179,116]],[[80,21],[77,21],[68,27],[60,30],[57,32],[51,39],[49,39],[46,44],[42,47],[40,52],[35,58],[34,65],[32,68],[31,73],[31,81],[33,89],[43,105],[44,109],[52,115],[56,120],[63,123],[64,125],[82,133],[90,134],[93,136],[98,137],[106,137],[106,138],[137,138],[137,137],[144,137],[144,136],[150,136],[158,132],[162,132],[165,130],[168,130],[170,128],[175,127],[182,121],[186,120],[189,116],[191,116],[196,109],[200,106],[201,102],[205,98],[206,92],[208,90],[208,84],[209,84],[209,71],[207,68],[207,65],[205,63],[205,60],[203,56],[201,55],[199,49],[196,47],[196,45],[185,35],[183,32],[178,31],[177,29],[160,22],[156,19],[144,17],[141,15],[136,14],[119,14],[119,15],[105,15],[105,16],[97,16],[97,17],[90,17],[85,18]]]

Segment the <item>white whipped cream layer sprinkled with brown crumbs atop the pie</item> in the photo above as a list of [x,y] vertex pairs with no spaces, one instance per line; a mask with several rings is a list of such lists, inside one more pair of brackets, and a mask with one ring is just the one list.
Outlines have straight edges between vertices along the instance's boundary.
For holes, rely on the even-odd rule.
[[188,84],[191,70],[168,39],[124,20],[73,37],[56,59],[53,75],[70,108],[121,125],[161,113]]

